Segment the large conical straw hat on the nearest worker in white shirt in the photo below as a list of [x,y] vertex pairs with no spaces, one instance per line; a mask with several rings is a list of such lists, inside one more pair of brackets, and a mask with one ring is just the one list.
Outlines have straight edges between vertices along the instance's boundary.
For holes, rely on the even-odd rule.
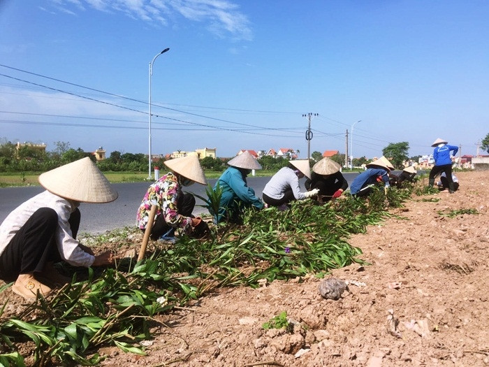
[[110,203],[119,196],[89,157],[45,172],[38,180],[52,194],[83,203]]

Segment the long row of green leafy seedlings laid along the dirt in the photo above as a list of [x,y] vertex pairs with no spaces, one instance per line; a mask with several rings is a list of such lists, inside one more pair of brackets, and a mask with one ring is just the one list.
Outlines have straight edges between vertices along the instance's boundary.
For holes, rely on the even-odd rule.
[[[81,279],[75,269],[70,284],[48,299],[38,296],[15,317],[2,317],[7,298],[0,309],[0,366],[96,365],[103,359],[98,348],[108,345],[145,354],[140,342],[153,338],[156,315],[212,289],[323,277],[362,263],[349,236],[389,215],[386,208],[402,206],[411,190],[375,190],[368,201],[346,195],[324,206],[296,202],[283,212],[249,210],[242,225],[219,224],[204,239],[182,236],[174,245],[155,245],[136,264],[85,269]],[[8,286],[0,289],[4,296]]]

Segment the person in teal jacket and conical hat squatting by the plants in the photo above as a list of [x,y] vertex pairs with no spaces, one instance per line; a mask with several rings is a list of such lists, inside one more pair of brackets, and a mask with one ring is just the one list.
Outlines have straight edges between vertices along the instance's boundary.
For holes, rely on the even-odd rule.
[[244,208],[261,210],[264,207],[263,201],[256,197],[254,189],[248,187],[246,182],[251,170],[261,169],[258,161],[245,151],[228,161],[228,165],[214,186],[214,192],[218,186],[222,190],[219,213],[214,215],[214,223],[240,223],[240,215]]

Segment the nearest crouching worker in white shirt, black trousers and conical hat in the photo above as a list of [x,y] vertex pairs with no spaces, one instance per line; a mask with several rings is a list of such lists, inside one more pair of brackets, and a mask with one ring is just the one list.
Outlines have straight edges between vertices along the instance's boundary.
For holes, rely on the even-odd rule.
[[107,251],[95,255],[76,240],[80,203],[109,203],[117,192],[88,157],[39,176],[46,189],[13,210],[0,226],[0,278],[15,280],[13,292],[31,299],[48,296],[53,285],[69,281],[54,263],[104,266],[114,262]]

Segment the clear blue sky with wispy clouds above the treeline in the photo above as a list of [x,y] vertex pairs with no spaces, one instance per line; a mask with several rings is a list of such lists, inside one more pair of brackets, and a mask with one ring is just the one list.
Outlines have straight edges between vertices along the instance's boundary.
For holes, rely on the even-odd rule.
[[[381,155],[489,133],[489,2],[0,0],[0,138]],[[351,141],[349,140],[349,148]]]

